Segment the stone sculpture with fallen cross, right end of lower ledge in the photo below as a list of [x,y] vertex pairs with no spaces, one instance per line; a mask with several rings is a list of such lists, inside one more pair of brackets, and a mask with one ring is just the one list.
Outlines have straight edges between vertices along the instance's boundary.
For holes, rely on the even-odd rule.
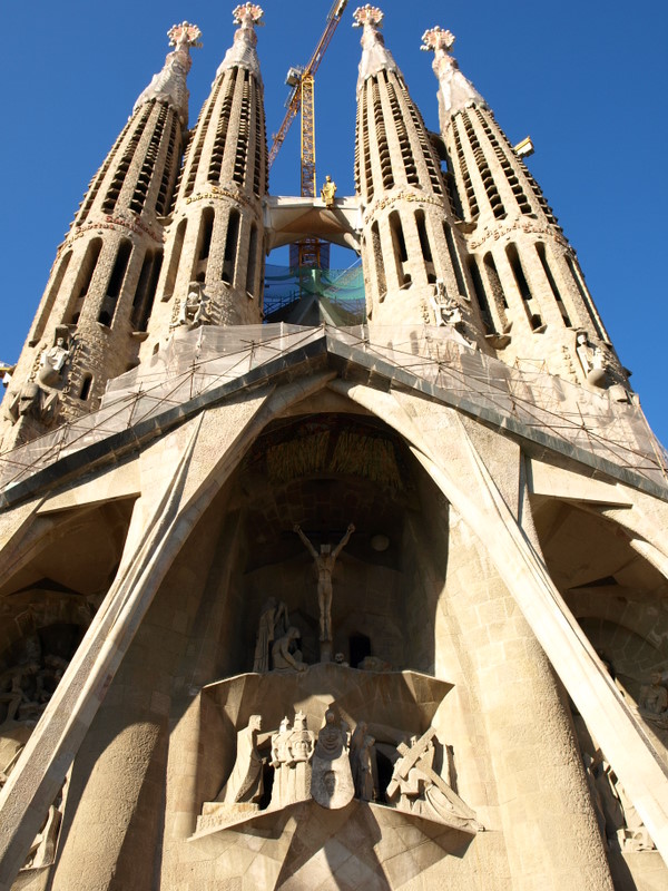
[[392,780],[387,785],[387,803],[397,811],[432,820],[435,823],[478,832],[481,829],[472,811],[434,771],[435,731],[430,727],[410,745],[400,743]]

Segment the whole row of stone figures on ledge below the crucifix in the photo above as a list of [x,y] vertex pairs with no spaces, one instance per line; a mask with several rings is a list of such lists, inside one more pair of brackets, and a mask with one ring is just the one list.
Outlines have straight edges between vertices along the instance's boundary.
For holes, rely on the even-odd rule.
[[[376,740],[364,721],[351,735],[347,723],[334,708],[327,708],[316,736],[299,709],[292,727],[285,716],[276,731],[265,734],[264,741],[258,738],[261,731],[261,716],[252,715],[248,726],[237,734],[234,767],[216,801],[205,803],[200,830],[238,822],[247,817],[248,811],[276,811],[310,799],[321,807],[336,810],[354,797],[464,832],[482,829],[475,813],[435,770],[440,744],[432,727],[420,738],[413,736],[409,742],[405,737],[394,748],[382,746],[384,753],[393,752],[393,772],[386,789],[379,784]],[[262,754],[267,743],[268,754]],[[264,802],[263,765],[274,772],[271,801],[265,797]]]

